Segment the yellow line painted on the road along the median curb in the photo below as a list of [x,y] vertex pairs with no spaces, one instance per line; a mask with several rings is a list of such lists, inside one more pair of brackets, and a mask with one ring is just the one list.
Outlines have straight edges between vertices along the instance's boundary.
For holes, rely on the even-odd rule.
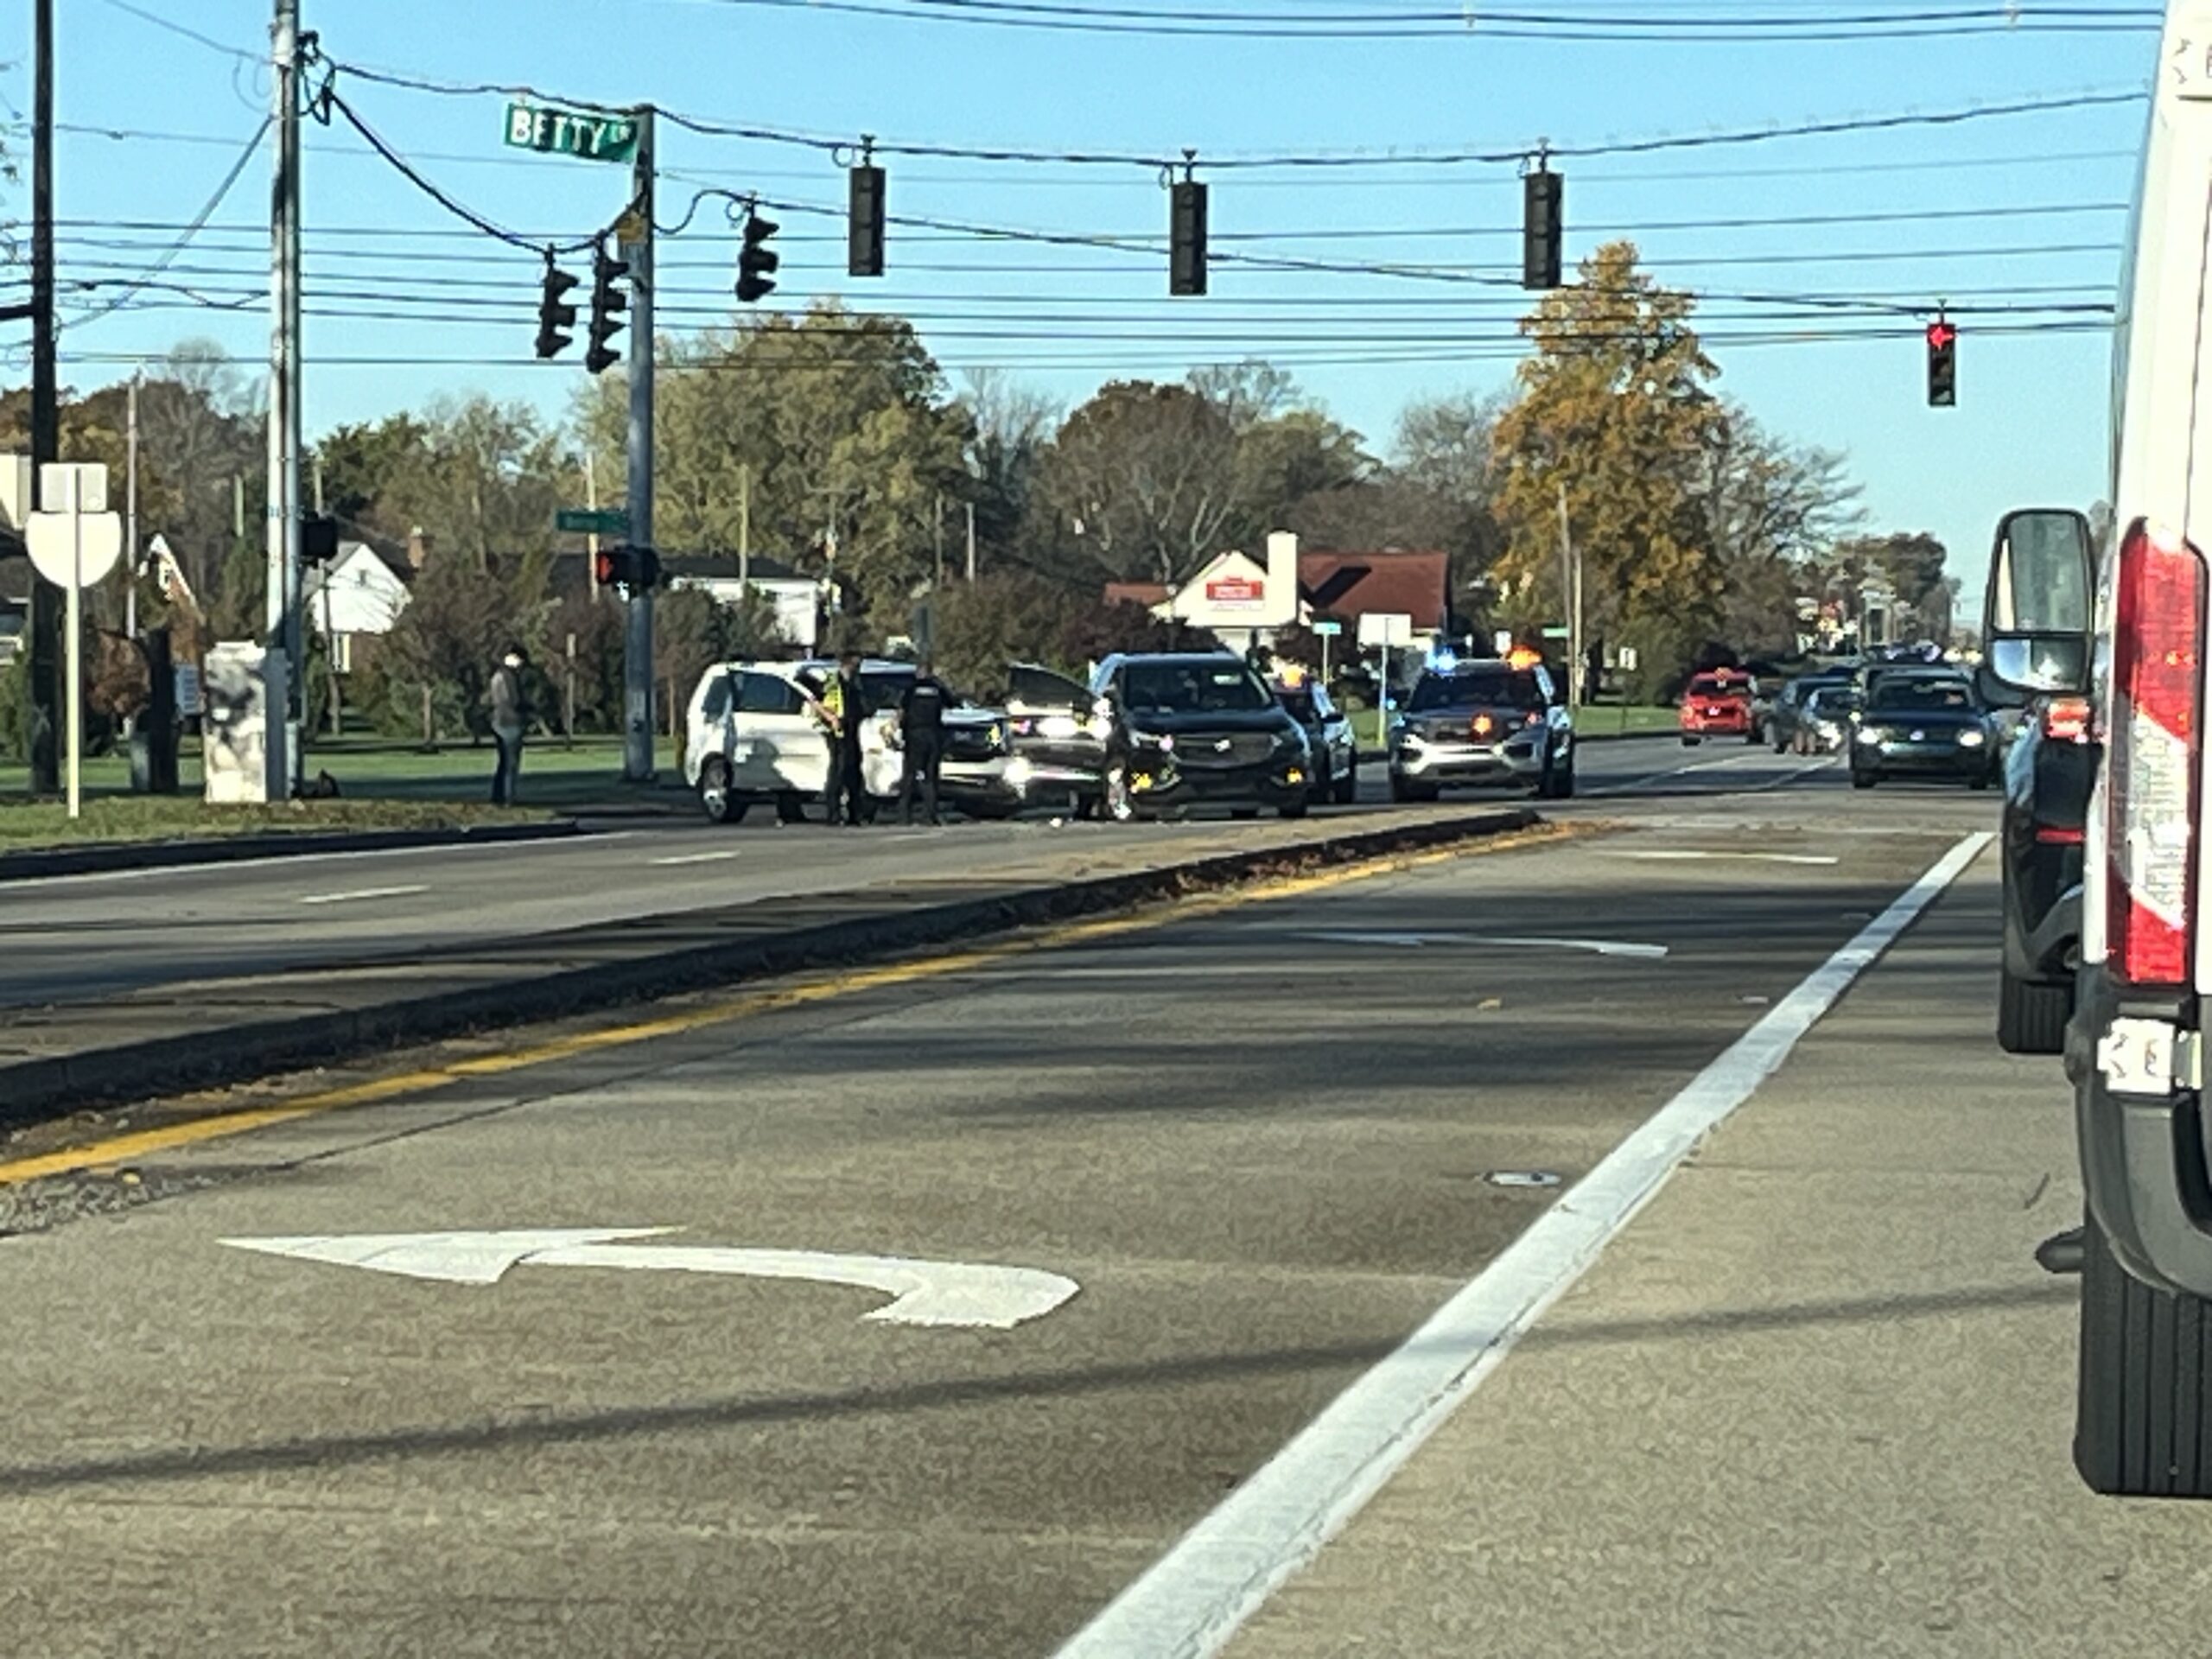
[[[1551,841],[1564,834],[1573,834],[1573,830],[1546,825],[1537,830],[1522,830],[1506,836],[1493,836],[1486,841],[1467,841],[1451,847],[1438,847],[1433,852],[1369,858],[1356,865],[1321,869],[1307,876],[1276,876],[1270,880],[1256,880],[1243,887],[1230,887],[1214,894],[1197,894],[1192,898],[1170,900],[1166,905],[1155,905],[1141,911],[1133,911],[1128,916],[1102,916],[1082,922],[1060,922],[1055,927],[1044,927],[1033,933],[1022,933],[1020,938],[1009,938],[995,945],[978,945],[973,949],[951,951],[945,956],[918,956],[902,962],[885,962],[880,967],[849,969],[814,980],[799,980],[796,984],[776,987],[772,991],[748,991],[743,995],[719,998],[714,1002],[706,1002],[695,1009],[686,1009],[681,1013],[666,1013],[655,1020],[639,1020],[635,1024],[622,1024],[622,1026],[602,1026],[597,1031],[575,1031],[564,1037],[551,1037],[546,1042],[529,1044],[526,1048],[507,1048],[495,1055],[478,1055],[471,1060],[451,1060],[438,1066],[420,1066],[416,1071],[403,1071],[389,1077],[372,1077],[361,1084],[347,1084],[343,1088],[325,1088],[312,1095],[294,1095],[292,1099],[272,1102],[270,1106],[241,1106],[230,1110],[215,1108],[204,1117],[192,1117],[179,1124],[142,1128],[128,1135],[111,1135],[106,1139],[86,1141],[82,1146],[66,1146],[58,1152],[40,1152],[33,1157],[22,1157],[0,1164],[0,1188],[22,1186],[27,1181],[44,1181],[55,1175],[102,1170],[117,1164],[131,1164],[133,1159],[150,1157],[155,1152],[173,1152],[181,1146],[199,1146],[201,1141],[215,1141],[228,1135],[248,1135],[257,1128],[290,1124],[301,1117],[316,1117],[321,1113],[334,1113],[347,1106],[374,1106],[376,1102],[405,1099],[407,1095],[420,1095],[431,1088],[440,1088],[442,1084],[465,1082],[469,1077],[498,1077],[509,1071],[546,1066],[560,1060],[575,1060],[580,1055],[602,1053],[606,1048],[628,1048],[639,1042],[679,1037],[688,1031],[699,1031],[701,1026],[728,1024],[732,1020],[750,1020],[754,1015],[776,1013],[781,1009],[801,1009],[812,1002],[830,1002],[832,998],[856,995],[863,991],[885,991],[900,984],[918,984],[922,980],[938,980],[949,973],[971,973],[975,969],[987,969],[1020,956],[1033,956],[1037,951],[1057,951],[1071,945],[1088,945],[1093,940],[1115,938],[1121,933],[1139,933],[1146,929],[1166,927],[1170,922],[1183,922],[1197,916],[1212,916],[1225,909],[1237,909],[1239,905],[1256,905],[1263,900],[1279,900],[1279,898],[1301,898],[1305,894],[1318,894],[1332,887],[1345,887],[1349,883],[1367,880],[1371,876],[1385,876],[1396,869],[1418,869],[1422,865],[1438,865],[1451,858],[1464,858],[1469,854],[1480,854],[1480,852],[1506,852],[1509,847],[1524,847],[1533,841]],[[210,1037],[210,1042],[219,1040],[221,1037]],[[208,1097],[208,1099],[212,1102],[219,1097]]]

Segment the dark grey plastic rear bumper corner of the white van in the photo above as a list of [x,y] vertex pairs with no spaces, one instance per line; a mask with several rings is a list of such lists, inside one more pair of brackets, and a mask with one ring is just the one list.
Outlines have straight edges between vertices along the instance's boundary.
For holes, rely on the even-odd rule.
[[2203,1095],[2188,1088],[2163,1099],[2115,1095],[2099,1071],[2097,1046],[2119,1018],[2199,1029],[2194,998],[2121,995],[2101,967],[2081,969],[2066,1029],[2066,1075],[2075,1084],[2088,1208],[2130,1274],[2161,1290],[2212,1298]]

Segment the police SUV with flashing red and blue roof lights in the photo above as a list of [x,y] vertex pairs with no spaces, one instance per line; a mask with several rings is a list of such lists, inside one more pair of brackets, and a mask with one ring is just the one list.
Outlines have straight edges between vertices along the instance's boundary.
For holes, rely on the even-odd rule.
[[1575,794],[1575,721],[1542,661],[1460,661],[1413,684],[1389,728],[1391,801],[1460,783]]

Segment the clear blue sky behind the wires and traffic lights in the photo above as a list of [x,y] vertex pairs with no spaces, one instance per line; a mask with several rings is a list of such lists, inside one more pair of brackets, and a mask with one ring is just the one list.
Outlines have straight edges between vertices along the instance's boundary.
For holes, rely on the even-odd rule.
[[[237,51],[265,49],[268,0],[137,2]],[[1896,4],[1522,0],[1513,9],[1601,20],[1666,11],[1838,15]],[[1973,0],[1929,0],[1929,9],[1966,4]],[[1495,274],[1520,257],[1515,168],[1416,166],[1391,153],[1511,153],[1540,139],[1573,148],[2126,91],[2148,82],[2154,51],[2152,33],[2035,31],[1792,44],[1515,40],[1484,27],[1482,13],[1495,15],[1495,7],[1471,7],[1471,29],[1420,40],[1104,35],[987,27],[973,22],[975,11],[942,20],[743,0],[305,7],[305,27],[321,33],[330,58],[429,80],[653,100],[723,124],[872,133],[885,144],[1144,157],[1188,146],[1212,184],[1217,248],[1332,265],[1486,265]],[[1199,9],[1354,15],[1425,7],[1206,0]],[[159,257],[232,166],[259,124],[265,75],[113,0],[66,0],[60,11],[60,119],[102,128],[62,137],[62,279],[115,281]],[[2024,11],[2033,18],[2037,4]],[[0,91],[24,108],[20,62]],[[619,168],[504,150],[495,95],[425,95],[343,73],[338,91],[429,177],[502,226],[577,237],[622,204]],[[2101,493],[2108,341],[2104,332],[1991,334],[1991,325],[2026,319],[1978,321],[1971,307],[2110,301],[2124,228],[2117,208],[2132,186],[2141,119],[2139,106],[2121,104],[1568,159],[1568,257],[1619,230],[1639,241],[1661,281],[1712,292],[1705,314],[1723,387],[1774,431],[1847,451],[1867,484],[1874,526],[1936,531],[1953,549],[1953,568],[1978,582],[2000,511],[2031,500],[2086,504]],[[557,367],[531,361],[535,259],[445,217],[343,124],[310,128],[307,144],[310,288],[341,312],[307,319],[310,431],[467,389],[529,398],[560,416],[582,369],[575,352]],[[1371,161],[1206,168],[1208,157],[1347,150],[1371,153]],[[1152,239],[1166,230],[1166,197],[1146,166],[883,159],[894,215]],[[803,146],[664,126],[661,166],[664,221],[699,184],[843,204],[836,161]],[[246,310],[146,290],[133,307],[69,330],[64,380],[100,385],[126,374],[126,358],[159,356],[186,336],[221,341],[246,358],[265,354],[265,316],[250,303],[265,268],[265,232],[252,230],[265,190],[261,155],[170,272],[195,294],[243,301]],[[20,188],[15,197],[20,212]],[[1931,217],[1854,221],[1860,215]],[[931,241],[896,226],[889,274],[854,283],[843,274],[841,217],[781,219],[776,301],[843,290],[856,303],[914,314],[956,383],[962,367],[995,363],[1075,403],[1102,378],[1168,378],[1194,363],[1261,354],[1292,365],[1336,418],[1378,447],[1409,398],[1504,385],[1511,319],[1524,303],[1504,285],[1234,265],[1214,268],[1208,299],[1170,301],[1164,254]],[[1252,232],[1261,239],[1237,241]],[[732,246],[712,201],[688,234],[664,243],[664,288],[672,290],[664,303],[692,307],[675,316],[677,327],[703,325],[732,305]],[[407,294],[429,299],[385,299]],[[1747,332],[1772,338],[1834,325],[1796,305],[1752,307],[1723,294],[1847,294],[1898,305],[1898,327],[1918,325],[1911,307],[1949,299],[1964,330],[1960,407],[1924,407],[1918,336],[1732,343]],[[1860,312],[1856,325],[1867,321]],[[1378,361],[1385,356],[1394,361]]]

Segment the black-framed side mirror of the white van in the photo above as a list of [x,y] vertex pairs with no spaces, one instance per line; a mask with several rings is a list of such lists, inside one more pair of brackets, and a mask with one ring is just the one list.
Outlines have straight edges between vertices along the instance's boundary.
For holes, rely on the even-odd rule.
[[1982,604],[1986,659],[1978,679],[1993,706],[2088,690],[2097,544],[2068,507],[2006,513],[1989,557]]

